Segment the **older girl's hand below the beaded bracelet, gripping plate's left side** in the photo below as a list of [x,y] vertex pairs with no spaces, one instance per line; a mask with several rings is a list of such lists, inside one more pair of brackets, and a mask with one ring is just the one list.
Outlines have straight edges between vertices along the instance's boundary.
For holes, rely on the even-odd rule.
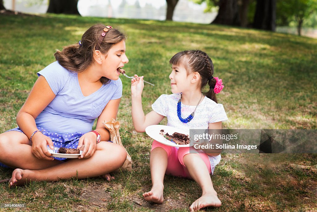
[[54,149],[53,142],[49,137],[43,135],[41,132],[37,132],[33,135],[32,153],[34,154],[34,156],[38,159],[53,161],[54,158],[50,157],[51,154],[47,150],[47,145],[49,145],[51,149]]

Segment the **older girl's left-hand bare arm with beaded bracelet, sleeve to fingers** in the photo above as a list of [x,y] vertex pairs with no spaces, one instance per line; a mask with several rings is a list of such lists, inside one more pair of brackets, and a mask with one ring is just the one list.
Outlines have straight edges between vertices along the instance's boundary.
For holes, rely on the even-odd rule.
[[[31,134],[37,130],[35,119],[55,98],[55,94],[49,83],[41,75],[35,82],[28,98],[16,116],[16,123],[23,133],[30,138]],[[49,157],[51,154],[46,148],[49,145],[53,149],[52,140],[37,132],[32,137],[32,153],[39,159],[54,160]]]

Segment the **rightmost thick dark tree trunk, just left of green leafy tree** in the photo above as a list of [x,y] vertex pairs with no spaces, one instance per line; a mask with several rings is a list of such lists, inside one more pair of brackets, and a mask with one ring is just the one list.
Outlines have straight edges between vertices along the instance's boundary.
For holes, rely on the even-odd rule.
[[276,0],[257,0],[253,27],[275,31]]

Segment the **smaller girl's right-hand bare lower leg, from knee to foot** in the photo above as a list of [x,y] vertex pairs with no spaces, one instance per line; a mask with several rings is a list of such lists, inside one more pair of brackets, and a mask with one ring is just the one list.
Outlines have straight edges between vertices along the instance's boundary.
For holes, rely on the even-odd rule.
[[188,169],[191,178],[194,179],[202,189],[202,196],[199,197],[190,206],[190,211],[199,210],[208,206],[220,207],[221,202],[218,199],[208,168],[198,154],[186,154],[183,158],[184,165]]

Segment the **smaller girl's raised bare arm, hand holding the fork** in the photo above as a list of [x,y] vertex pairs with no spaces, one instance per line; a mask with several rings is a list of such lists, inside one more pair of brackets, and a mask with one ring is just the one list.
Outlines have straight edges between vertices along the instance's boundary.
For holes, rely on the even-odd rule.
[[159,124],[165,116],[154,111],[144,115],[142,107],[142,91],[144,88],[143,76],[131,79],[131,97],[132,97],[132,121],[135,130],[139,133],[145,132],[145,128],[150,125]]

